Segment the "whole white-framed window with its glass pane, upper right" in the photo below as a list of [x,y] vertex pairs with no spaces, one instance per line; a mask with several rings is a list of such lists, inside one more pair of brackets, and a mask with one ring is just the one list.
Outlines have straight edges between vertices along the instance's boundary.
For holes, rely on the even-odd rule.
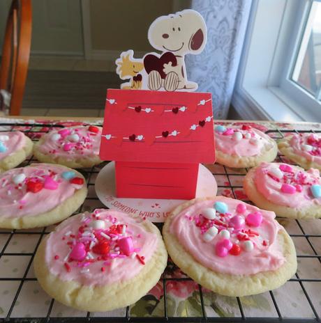
[[253,0],[232,105],[244,119],[321,122],[321,2]]

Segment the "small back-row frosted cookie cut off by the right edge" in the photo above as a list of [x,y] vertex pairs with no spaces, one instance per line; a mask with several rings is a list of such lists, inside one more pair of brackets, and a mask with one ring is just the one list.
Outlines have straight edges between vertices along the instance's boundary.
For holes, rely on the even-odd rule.
[[304,169],[321,171],[321,134],[292,134],[278,141],[283,155]]

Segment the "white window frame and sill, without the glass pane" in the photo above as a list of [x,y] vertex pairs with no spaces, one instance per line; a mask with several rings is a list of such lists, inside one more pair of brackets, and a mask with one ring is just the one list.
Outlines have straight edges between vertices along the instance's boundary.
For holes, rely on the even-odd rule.
[[321,121],[321,105],[318,109],[307,109],[306,102],[301,102],[293,88],[289,90],[286,88],[289,84],[285,85],[282,81],[297,55],[293,49],[304,24],[298,13],[301,15],[308,10],[310,2],[253,0],[232,97],[232,105],[241,118],[283,122]]

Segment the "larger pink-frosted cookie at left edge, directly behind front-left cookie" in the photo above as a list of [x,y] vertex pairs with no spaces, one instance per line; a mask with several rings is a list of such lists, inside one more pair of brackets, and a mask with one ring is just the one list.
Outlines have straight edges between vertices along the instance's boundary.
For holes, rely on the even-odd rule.
[[84,177],[54,164],[31,164],[0,175],[0,228],[36,228],[66,219],[87,196]]

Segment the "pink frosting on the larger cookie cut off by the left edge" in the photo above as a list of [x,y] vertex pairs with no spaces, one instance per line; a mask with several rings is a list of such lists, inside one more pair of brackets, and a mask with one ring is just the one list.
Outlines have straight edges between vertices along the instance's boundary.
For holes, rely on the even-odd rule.
[[[0,175],[0,216],[35,216],[52,210],[73,196],[83,184],[73,184],[62,174],[70,168],[53,164],[33,164],[13,168]],[[19,176],[23,179],[18,183]],[[25,177],[25,178],[24,178]],[[82,178],[79,178],[83,182]],[[43,187],[36,191],[38,187]],[[36,192],[33,192],[36,191]]]

